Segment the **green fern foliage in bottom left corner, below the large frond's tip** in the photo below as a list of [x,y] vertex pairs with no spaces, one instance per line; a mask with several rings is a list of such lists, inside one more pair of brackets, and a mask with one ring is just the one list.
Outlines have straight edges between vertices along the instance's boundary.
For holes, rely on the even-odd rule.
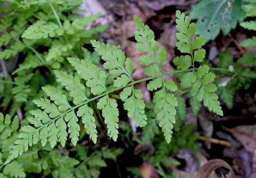
[[[25,124],[22,124],[23,126]],[[4,166],[3,160],[20,133],[20,122],[17,116],[11,119],[10,115],[0,113],[0,169]],[[66,148],[51,148],[49,144],[32,146],[18,159],[4,166],[0,178],[25,178],[30,173],[41,174],[44,177],[52,175],[53,178],[92,177],[93,172],[99,173],[101,167],[106,167],[105,160],[115,160],[123,152],[121,148],[108,148],[98,146],[88,156],[90,146],[77,145],[75,158],[64,155]],[[78,165],[79,166],[76,166]],[[75,167],[76,166],[76,167]]]

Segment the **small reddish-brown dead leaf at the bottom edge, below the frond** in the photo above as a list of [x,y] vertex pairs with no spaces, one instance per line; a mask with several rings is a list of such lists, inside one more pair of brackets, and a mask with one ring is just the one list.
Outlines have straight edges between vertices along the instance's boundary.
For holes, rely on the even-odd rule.
[[157,169],[150,162],[143,162],[139,166],[139,170],[143,178],[159,178]]

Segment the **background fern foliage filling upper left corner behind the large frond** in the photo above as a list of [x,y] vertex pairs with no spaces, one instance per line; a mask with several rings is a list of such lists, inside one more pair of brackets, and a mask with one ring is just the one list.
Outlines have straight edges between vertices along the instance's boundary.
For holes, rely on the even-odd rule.
[[[7,63],[15,64],[18,58],[20,65],[11,78],[0,81],[3,85],[0,97],[3,97],[1,107],[7,106],[14,97],[11,107],[14,115],[23,104],[32,107],[29,110],[35,108],[31,101],[43,97],[40,86],[47,83],[56,86],[53,69],[69,65],[66,57],[91,59],[97,64],[100,59],[97,53],[91,56],[83,46],[98,38],[96,34],[105,31],[108,25],[85,30],[100,13],[87,17],[77,15],[81,10],[76,7],[82,0],[0,1],[3,2],[0,47],[4,50],[0,52],[0,59],[10,59]],[[46,67],[48,72],[40,74],[34,70],[39,67]]]

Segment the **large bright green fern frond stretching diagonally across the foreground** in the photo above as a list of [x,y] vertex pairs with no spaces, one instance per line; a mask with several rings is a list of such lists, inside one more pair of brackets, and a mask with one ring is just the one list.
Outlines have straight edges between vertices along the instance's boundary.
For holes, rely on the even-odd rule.
[[[205,50],[201,49],[205,43],[204,36],[198,36],[192,40],[192,35],[196,32],[196,25],[190,24],[189,17],[177,11],[177,48],[182,53],[189,55],[179,56],[174,59],[177,65],[176,71],[164,73],[162,65],[166,60],[166,51],[163,47],[157,46],[154,32],[144,25],[138,16],[134,16],[134,21],[139,31],[135,32],[135,38],[138,41],[136,48],[140,52],[149,52],[138,59],[141,65],[146,65],[145,74],[151,76],[146,79],[134,81],[132,73],[134,70],[133,61],[126,58],[124,52],[116,46],[105,45],[96,40],[91,43],[96,51],[105,61],[104,68],[109,71],[109,75],[115,78],[114,89],[106,87],[106,71],[99,70],[96,65],[89,61],[75,58],[67,58],[69,63],[75,67],[79,76],[86,81],[86,86],[96,97],[89,98],[85,94],[85,86],[81,84],[79,77],[68,75],[65,72],[55,70],[57,80],[69,91],[70,97],[73,97],[73,104],[68,102],[61,90],[53,86],[42,87],[43,91],[50,97],[34,100],[34,103],[41,110],[34,110],[30,113],[33,117],[28,117],[28,121],[33,127],[28,125],[21,128],[22,133],[18,135],[19,139],[15,142],[5,163],[17,158],[29,146],[41,143],[45,146],[47,142],[54,147],[57,142],[65,145],[68,133],[71,142],[76,146],[79,140],[80,126],[79,117],[86,129],[86,133],[94,143],[97,142],[97,129],[93,110],[87,105],[90,101],[98,99],[97,107],[102,110],[105,124],[108,128],[108,134],[114,141],[118,138],[118,104],[109,94],[123,89],[120,98],[124,100],[124,109],[128,111],[128,116],[134,118],[134,121],[143,127],[147,124],[146,115],[144,115],[145,104],[142,100],[140,90],[134,88],[134,84],[151,80],[147,89],[156,91],[154,96],[154,111],[157,113],[159,126],[164,132],[165,140],[170,143],[172,137],[173,124],[175,123],[176,107],[178,105],[177,97],[172,92],[177,90],[174,81],[164,81],[163,76],[185,72],[180,83],[181,89],[191,88],[190,93],[196,96],[198,101],[202,101],[210,111],[223,115],[219,106],[218,97],[214,93],[217,87],[212,82],[215,75],[209,72],[207,65],[195,68],[195,62],[201,62],[205,57]],[[193,52],[197,49],[195,52]],[[68,129],[68,133],[67,130]]]

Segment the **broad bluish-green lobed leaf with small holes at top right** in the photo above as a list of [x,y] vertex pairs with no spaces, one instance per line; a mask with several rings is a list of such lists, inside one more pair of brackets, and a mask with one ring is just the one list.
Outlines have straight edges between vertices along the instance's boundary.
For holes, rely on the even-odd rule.
[[[196,34],[204,35],[206,42],[214,40],[220,30],[224,35],[227,35],[231,29],[236,28],[237,22],[242,22],[246,17],[241,9],[242,0],[235,0],[232,3],[232,8],[228,8],[229,0],[200,0],[192,6],[190,12],[191,19],[197,19]],[[223,21],[223,14],[224,20]],[[223,28],[225,27],[225,28]]]

